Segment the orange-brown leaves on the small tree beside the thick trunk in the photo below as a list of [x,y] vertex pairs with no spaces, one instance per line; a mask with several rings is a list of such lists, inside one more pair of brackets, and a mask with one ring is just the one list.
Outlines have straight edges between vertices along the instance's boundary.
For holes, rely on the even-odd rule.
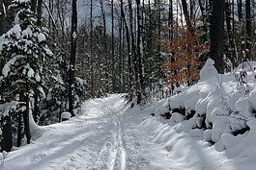
[[184,84],[195,82],[199,79],[199,69],[202,61],[199,61],[200,53],[208,53],[209,45],[199,44],[198,39],[203,32],[191,34],[186,29],[180,29],[180,35],[172,40],[161,41],[163,49],[172,54],[175,61],[166,61],[162,70],[166,74],[165,83]]

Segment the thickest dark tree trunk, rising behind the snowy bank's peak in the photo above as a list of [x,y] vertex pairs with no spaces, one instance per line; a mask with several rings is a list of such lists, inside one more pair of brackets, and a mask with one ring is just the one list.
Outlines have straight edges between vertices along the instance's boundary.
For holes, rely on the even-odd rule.
[[218,73],[224,73],[224,11],[225,0],[213,0],[213,13],[210,28],[210,57]]

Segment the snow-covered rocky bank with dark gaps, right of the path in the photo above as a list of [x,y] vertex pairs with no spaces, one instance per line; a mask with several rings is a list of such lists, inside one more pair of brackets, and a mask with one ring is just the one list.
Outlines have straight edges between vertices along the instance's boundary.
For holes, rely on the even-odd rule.
[[163,121],[179,131],[195,135],[197,130],[203,131],[202,139],[217,151],[225,151],[228,158],[256,158],[255,77],[254,69],[247,69],[255,64],[244,63],[236,73],[220,75],[213,63],[206,62],[198,84],[144,112],[170,118]]

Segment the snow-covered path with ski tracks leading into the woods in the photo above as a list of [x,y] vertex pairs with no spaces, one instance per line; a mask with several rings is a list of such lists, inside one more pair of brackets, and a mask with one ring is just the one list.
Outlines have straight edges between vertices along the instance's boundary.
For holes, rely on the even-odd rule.
[[0,169],[233,169],[205,142],[169,131],[167,124],[141,113],[139,108],[128,109],[121,95],[90,100],[82,112],[69,121],[34,132],[42,136],[9,153]]

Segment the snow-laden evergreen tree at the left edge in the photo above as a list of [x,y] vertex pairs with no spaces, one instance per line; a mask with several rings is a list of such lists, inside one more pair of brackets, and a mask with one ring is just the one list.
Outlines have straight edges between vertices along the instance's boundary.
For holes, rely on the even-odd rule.
[[[53,54],[46,44],[47,34],[35,25],[31,2],[14,0],[10,9],[15,13],[13,28],[1,38],[1,98],[6,103],[18,101],[19,109],[14,111],[14,115],[18,117],[18,123],[22,119],[24,134],[29,143],[30,103],[35,91],[39,91],[42,98],[45,96],[43,88],[48,80],[47,65]],[[17,127],[22,128],[21,125]],[[17,132],[21,133],[21,130]],[[18,140],[21,138],[18,137]]]

